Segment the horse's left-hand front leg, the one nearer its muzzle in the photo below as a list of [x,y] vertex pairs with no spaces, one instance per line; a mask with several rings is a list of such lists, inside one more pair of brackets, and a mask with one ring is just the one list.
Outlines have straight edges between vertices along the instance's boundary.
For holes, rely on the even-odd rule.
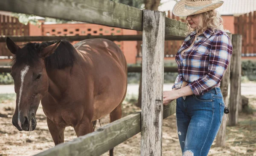
[[47,125],[55,145],[64,142],[65,127],[60,127],[47,117]]

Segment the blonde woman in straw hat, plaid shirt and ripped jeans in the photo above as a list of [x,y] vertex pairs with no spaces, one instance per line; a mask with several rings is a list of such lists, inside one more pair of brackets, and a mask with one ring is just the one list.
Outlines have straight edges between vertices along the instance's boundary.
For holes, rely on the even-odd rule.
[[167,105],[177,99],[177,131],[183,156],[207,156],[224,113],[219,88],[232,54],[230,38],[214,9],[223,1],[180,0],[173,14],[194,29],[177,51],[178,76],[172,91],[163,92]]

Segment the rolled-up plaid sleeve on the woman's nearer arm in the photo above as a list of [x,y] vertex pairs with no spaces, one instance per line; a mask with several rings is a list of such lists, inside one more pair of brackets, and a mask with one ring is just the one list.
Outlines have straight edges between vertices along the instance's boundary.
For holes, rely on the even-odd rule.
[[189,83],[195,95],[203,95],[214,88],[224,76],[232,55],[232,43],[227,34],[218,34],[212,42],[208,73]]

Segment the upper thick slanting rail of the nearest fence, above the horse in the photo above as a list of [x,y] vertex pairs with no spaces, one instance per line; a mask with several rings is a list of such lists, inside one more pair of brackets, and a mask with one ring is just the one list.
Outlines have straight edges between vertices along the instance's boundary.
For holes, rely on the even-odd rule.
[[[142,31],[142,10],[110,0],[0,0],[0,10]],[[165,25],[166,35],[186,36],[186,23]]]

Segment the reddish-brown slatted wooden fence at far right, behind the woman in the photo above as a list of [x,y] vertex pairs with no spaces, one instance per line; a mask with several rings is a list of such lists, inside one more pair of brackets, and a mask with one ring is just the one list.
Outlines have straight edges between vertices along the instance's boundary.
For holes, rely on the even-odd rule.
[[256,56],[256,11],[235,17],[235,34],[242,35],[242,56]]

